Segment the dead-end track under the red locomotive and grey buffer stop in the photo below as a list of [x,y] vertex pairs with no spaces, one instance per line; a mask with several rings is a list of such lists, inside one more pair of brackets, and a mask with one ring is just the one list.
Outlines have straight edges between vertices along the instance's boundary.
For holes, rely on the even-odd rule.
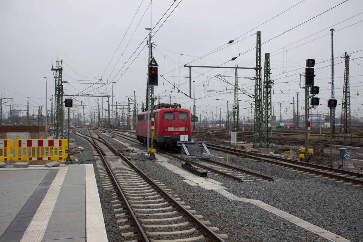
[[[113,131],[114,135],[118,135],[119,137],[122,137],[123,139],[127,139],[130,140],[132,142],[135,143],[139,143],[138,140],[136,139],[130,139],[129,136],[124,135],[122,133],[119,132],[115,132]],[[140,144],[142,145],[142,144]],[[145,146],[145,145],[143,145]],[[162,152],[166,155],[172,156],[175,159],[184,161],[183,159],[180,158],[180,156],[175,155],[173,153],[170,152],[166,152],[163,150],[158,150],[159,152]],[[206,171],[210,171],[210,172],[214,172],[216,174],[231,178],[233,180],[236,181],[240,181],[240,182],[255,182],[255,181],[262,181],[262,180],[268,180],[268,181],[273,181],[273,178],[270,176],[266,176],[266,175],[262,175],[256,172],[252,172],[252,171],[248,171],[239,167],[234,167],[232,165],[228,165],[228,164],[224,164],[218,161],[205,161],[205,160],[198,160],[198,161],[188,161],[188,163],[195,165],[197,167],[200,167]]]

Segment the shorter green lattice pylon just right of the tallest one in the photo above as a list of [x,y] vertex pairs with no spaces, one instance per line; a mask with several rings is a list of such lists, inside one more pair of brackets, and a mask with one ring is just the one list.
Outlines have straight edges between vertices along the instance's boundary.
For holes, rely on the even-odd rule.
[[[273,148],[272,143],[272,98],[271,87],[273,80],[270,76],[270,53],[265,53],[264,68],[264,99],[262,105],[262,129],[263,129],[263,148]],[[261,139],[262,140],[262,139]],[[261,141],[260,141],[261,143]],[[260,146],[261,147],[261,146]]]

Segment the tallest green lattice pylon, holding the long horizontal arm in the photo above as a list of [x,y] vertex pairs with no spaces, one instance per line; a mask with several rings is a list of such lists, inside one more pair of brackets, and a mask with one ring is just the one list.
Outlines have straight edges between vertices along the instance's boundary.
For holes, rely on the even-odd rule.
[[[254,134],[253,148],[262,147],[262,75],[261,75],[261,31],[256,33],[256,82],[254,87]],[[257,145],[257,137],[260,141]]]

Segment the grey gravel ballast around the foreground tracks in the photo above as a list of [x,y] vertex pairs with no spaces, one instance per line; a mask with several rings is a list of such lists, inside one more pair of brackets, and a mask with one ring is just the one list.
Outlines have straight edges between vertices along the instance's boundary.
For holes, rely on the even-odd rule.
[[[106,135],[103,137],[115,147],[123,148],[119,142],[108,138]],[[75,154],[74,157],[79,162],[84,161],[82,164],[94,164],[100,199],[111,200],[112,192],[103,190],[102,185],[100,185],[101,180],[97,174],[97,165],[93,160],[93,152],[88,141],[78,138],[78,136],[74,137],[74,135],[71,135],[71,138],[75,138],[76,145],[85,148],[84,151]],[[131,143],[131,141],[122,140],[119,137],[117,139]],[[138,144],[131,144],[131,146],[145,149]],[[224,156],[222,153],[218,155]],[[186,202],[186,205],[190,205],[191,209],[202,215],[203,220],[209,220],[211,226],[218,227],[217,233],[227,234],[229,236],[228,239],[225,239],[227,242],[328,241],[248,202],[229,200],[214,190],[190,186],[183,181],[183,177],[166,169],[157,161],[146,160],[143,155],[131,157],[135,158],[135,165],[149,177],[163,182],[167,188],[178,194],[181,200]],[[169,163],[181,167],[181,161],[170,157],[168,159]],[[223,183],[228,192],[238,197],[260,200],[351,241],[363,241],[362,188],[232,155],[229,155],[229,164],[272,176],[274,181],[234,182],[210,172],[208,172],[208,178]],[[107,207],[111,207],[110,204],[103,202],[104,211]],[[110,211],[112,210],[110,209]],[[110,227],[107,228],[109,241],[117,241],[115,239],[120,237],[114,214],[104,212],[104,217],[106,226]]]

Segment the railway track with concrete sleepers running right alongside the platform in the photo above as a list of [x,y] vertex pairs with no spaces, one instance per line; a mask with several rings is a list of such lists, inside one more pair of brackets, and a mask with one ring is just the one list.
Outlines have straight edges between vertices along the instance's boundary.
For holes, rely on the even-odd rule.
[[223,242],[221,237],[227,237],[217,235],[213,230],[218,229],[208,227],[209,221],[201,221],[202,216],[193,215],[196,212],[183,205],[185,202],[180,201],[178,195],[146,176],[94,131],[89,131],[90,135],[74,132],[90,141],[97,150],[102,160],[99,166],[104,166],[100,172],[104,187],[105,184],[115,186],[119,192],[122,201],[111,202],[126,240]]

